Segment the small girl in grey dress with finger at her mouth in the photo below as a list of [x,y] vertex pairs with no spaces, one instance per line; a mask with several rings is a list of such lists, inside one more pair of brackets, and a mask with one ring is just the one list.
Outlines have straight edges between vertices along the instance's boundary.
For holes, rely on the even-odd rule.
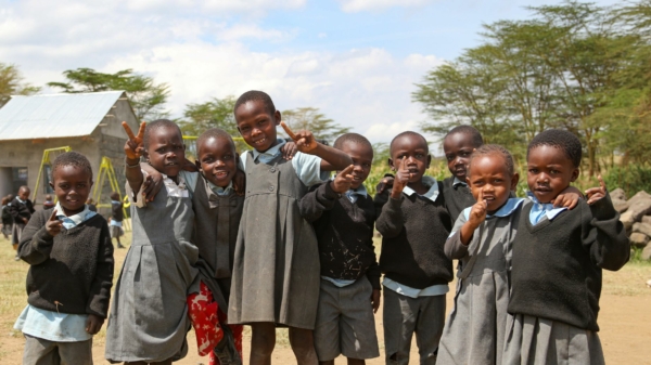
[[468,186],[476,204],[463,209],[445,244],[459,265],[455,308],[438,346],[438,364],[501,364],[509,304],[511,249],[523,205],[513,157],[483,145],[468,159]]

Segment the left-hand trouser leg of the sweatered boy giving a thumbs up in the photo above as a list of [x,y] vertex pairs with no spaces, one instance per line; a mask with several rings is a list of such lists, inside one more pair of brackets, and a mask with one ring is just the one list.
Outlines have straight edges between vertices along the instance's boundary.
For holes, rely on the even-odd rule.
[[384,290],[384,352],[387,365],[408,365],[411,337],[419,315],[418,298]]

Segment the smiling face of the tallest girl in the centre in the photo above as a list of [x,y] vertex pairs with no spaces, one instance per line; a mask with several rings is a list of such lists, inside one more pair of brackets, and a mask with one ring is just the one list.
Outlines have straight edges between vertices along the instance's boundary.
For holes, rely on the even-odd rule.
[[269,114],[261,101],[250,101],[235,110],[238,130],[244,141],[258,152],[276,145],[276,126],[280,125],[280,112]]

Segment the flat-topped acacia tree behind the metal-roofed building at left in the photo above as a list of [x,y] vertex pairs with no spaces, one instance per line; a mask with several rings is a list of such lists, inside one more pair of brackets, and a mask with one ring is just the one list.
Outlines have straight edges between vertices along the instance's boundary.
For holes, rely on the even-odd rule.
[[92,68],[77,68],[65,70],[63,75],[67,82],[48,82],[48,86],[69,93],[124,90],[139,120],[154,120],[169,116],[169,110],[165,107],[169,97],[169,86],[155,83],[152,77],[133,74],[130,68],[115,74],[98,73]]

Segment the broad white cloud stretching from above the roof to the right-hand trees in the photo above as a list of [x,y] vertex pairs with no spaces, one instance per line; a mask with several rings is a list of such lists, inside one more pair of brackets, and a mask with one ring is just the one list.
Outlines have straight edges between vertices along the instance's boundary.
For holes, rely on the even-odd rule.
[[[442,62],[427,54],[396,57],[381,48],[329,52],[283,47],[259,52],[244,41],[282,42],[294,34],[263,28],[252,19],[230,24],[228,18],[151,11],[157,6],[154,1],[132,3],[150,6],[148,16],[120,12],[126,5],[119,1],[106,8],[61,1],[71,13],[35,0],[0,11],[1,61],[18,65],[26,80],[37,86],[62,80],[65,69],[132,68],[170,86],[175,116],[189,103],[258,89],[269,92],[280,109],[319,107],[372,142],[386,142],[400,131],[418,130],[425,119],[420,105],[411,103],[413,83]],[[42,11],[35,11],[37,3]],[[176,1],[180,8],[188,3],[192,1]],[[253,3],[272,6],[272,1]]]

